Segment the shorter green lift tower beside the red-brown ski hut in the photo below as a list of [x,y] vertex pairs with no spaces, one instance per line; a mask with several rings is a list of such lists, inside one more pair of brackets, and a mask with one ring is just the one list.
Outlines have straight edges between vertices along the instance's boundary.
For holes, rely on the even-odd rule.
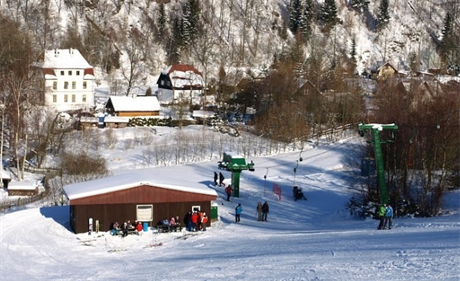
[[244,157],[224,152],[224,159],[219,161],[218,168],[232,172],[233,197],[240,197],[240,174],[243,170],[254,171],[254,163],[246,164]]

